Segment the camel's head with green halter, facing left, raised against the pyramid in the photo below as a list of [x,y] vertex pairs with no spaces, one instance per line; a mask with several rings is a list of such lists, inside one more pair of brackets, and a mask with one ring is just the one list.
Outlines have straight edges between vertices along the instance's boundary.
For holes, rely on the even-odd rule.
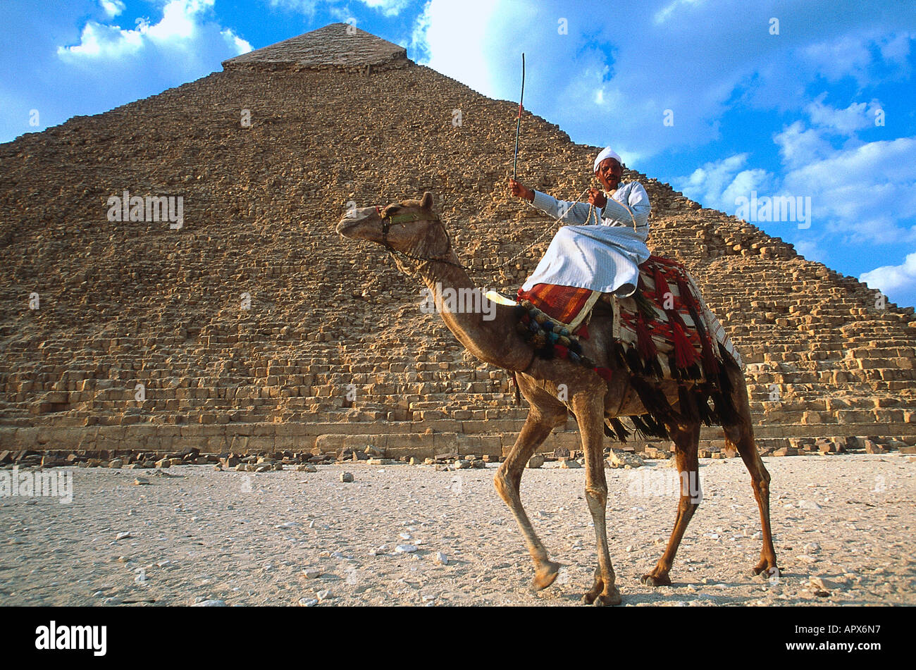
[[419,258],[443,258],[451,251],[448,234],[432,212],[432,194],[385,207],[354,207],[337,224],[337,232]]

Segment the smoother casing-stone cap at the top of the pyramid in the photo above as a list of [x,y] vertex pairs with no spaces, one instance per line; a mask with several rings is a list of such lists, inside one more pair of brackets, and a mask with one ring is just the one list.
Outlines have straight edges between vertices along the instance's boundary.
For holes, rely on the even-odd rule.
[[411,61],[407,49],[354,25],[332,23],[223,61],[224,70],[387,70]]

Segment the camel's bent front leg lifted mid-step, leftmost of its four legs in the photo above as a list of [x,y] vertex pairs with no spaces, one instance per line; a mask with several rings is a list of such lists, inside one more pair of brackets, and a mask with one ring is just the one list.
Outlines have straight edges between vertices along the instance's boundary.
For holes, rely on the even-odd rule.
[[525,536],[525,545],[528,546],[531,559],[534,561],[534,588],[546,589],[557,578],[560,569],[559,563],[551,561],[547,550],[542,544],[534,528],[531,527],[528,514],[521,504],[519,487],[525,465],[534,454],[536,448],[543,444],[555,426],[566,422],[566,407],[559,400],[546,391],[541,391],[530,383],[527,378],[518,375],[519,388],[529,400],[531,409],[525,425],[518,433],[518,439],[506,460],[496,470],[496,479],[493,481],[496,491],[509,506],[516,518],[518,528]]

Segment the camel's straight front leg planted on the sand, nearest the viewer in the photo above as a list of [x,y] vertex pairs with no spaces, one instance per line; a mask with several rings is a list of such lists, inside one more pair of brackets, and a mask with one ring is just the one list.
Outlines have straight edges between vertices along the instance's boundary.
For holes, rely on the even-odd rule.
[[583,595],[583,602],[591,605],[619,605],[614,567],[607,551],[605,509],[607,506],[607,480],[605,478],[605,407],[598,394],[573,397],[573,412],[579,422],[579,436],[585,452],[585,500],[594,521],[594,536],[598,547],[598,567],[594,571],[594,585]]

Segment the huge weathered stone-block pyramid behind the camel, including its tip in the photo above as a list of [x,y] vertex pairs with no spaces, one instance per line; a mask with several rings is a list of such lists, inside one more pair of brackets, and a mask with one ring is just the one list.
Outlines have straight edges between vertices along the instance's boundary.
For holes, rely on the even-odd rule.
[[[333,24],[0,145],[0,446],[498,454],[525,416],[507,373],[334,228],[348,202],[431,190],[478,286],[514,295],[551,226],[507,196],[517,110]],[[597,147],[523,128],[519,178],[573,200]],[[687,265],[748,363],[758,438],[916,439],[912,308],[633,178],[649,248]],[[125,191],[180,197],[181,222],[156,200],[119,216]],[[575,448],[568,428],[545,448]]]

